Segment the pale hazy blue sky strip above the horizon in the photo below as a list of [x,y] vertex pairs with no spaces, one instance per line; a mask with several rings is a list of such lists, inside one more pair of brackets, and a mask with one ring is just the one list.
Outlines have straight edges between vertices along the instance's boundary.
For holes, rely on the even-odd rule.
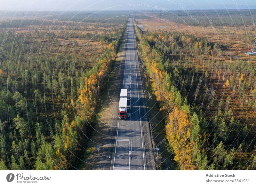
[[[180,4],[182,3],[182,4]],[[178,10],[255,9],[256,0],[0,0],[0,10]]]

